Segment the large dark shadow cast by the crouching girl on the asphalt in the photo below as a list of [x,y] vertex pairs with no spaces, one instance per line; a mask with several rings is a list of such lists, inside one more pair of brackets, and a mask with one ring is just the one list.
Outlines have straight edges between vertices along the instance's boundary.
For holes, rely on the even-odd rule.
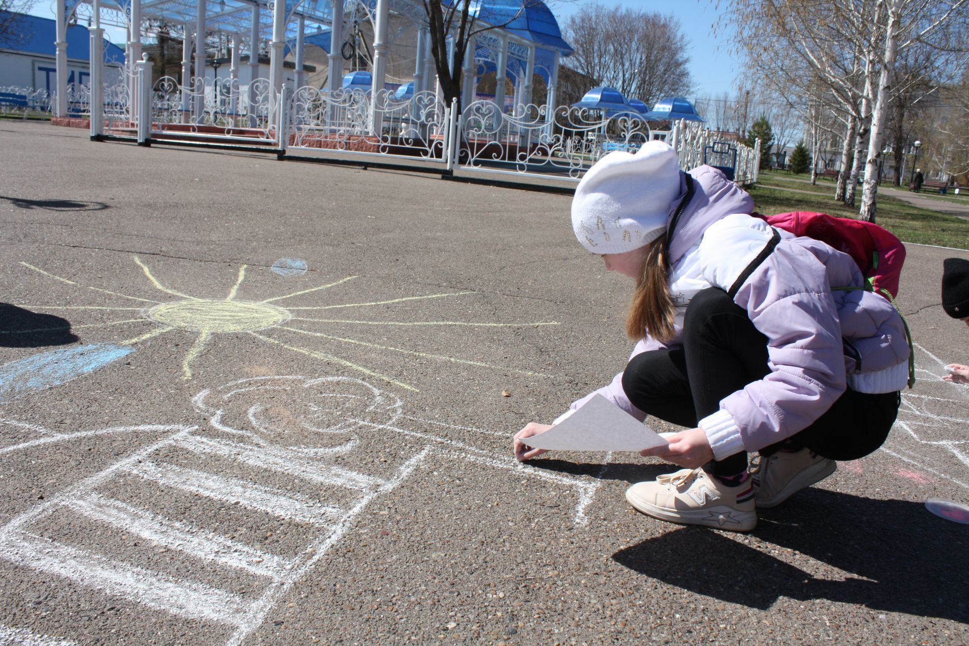
[[[933,516],[921,503],[809,489],[760,515],[752,536],[840,569],[845,580],[813,578],[763,547],[700,527],[670,525],[612,558],[684,590],[763,610],[783,597],[969,620],[969,528]],[[787,552],[788,561],[792,556]]]

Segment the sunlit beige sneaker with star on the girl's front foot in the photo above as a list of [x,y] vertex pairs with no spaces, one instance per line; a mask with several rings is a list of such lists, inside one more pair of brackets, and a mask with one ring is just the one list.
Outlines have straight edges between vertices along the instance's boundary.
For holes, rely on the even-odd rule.
[[757,526],[753,482],[729,487],[703,469],[683,469],[638,482],[626,490],[626,500],[638,511],[683,525],[706,525],[749,532]]

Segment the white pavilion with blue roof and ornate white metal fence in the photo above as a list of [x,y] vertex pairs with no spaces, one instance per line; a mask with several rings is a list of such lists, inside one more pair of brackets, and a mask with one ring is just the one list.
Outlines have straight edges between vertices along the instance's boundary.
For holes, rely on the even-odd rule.
[[[72,1],[74,5],[69,4]],[[698,121],[680,119],[669,130],[654,131],[641,108],[616,112],[556,106],[560,58],[569,55],[571,47],[540,2],[515,2],[517,10],[509,8],[508,0],[478,6],[477,24],[498,26],[472,38],[460,71],[461,96],[453,101],[446,100],[436,80],[426,17],[415,0],[90,2],[56,0],[58,70],[63,58],[61,25],[67,24],[68,16],[77,19],[78,12],[90,11],[91,61],[102,60],[102,14],[127,27],[123,74],[118,82],[105,83],[103,66],[92,63],[86,91],[68,87],[66,75],[58,74],[49,104],[57,117],[87,116],[93,139],[216,145],[262,150],[281,159],[391,165],[558,188],[574,186],[610,151],[635,151],[649,139],[668,140],[684,169],[705,163],[705,149],[720,145]],[[356,15],[365,15],[372,25],[372,60],[365,73],[369,87],[360,82],[365,77],[359,71],[353,73],[352,83],[344,83],[345,47],[340,44],[346,45],[348,16]],[[183,25],[180,78],[152,80],[153,64],[142,55],[141,44],[142,27],[149,19]],[[391,24],[396,26],[394,36]],[[205,75],[204,34],[213,29],[231,41],[229,77]],[[326,86],[305,84],[307,38],[317,43],[328,40]],[[413,80],[406,86],[389,83],[391,46],[406,48],[409,43],[414,43],[415,52]],[[244,48],[249,50],[248,80],[240,69]],[[451,37],[447,49],[453,60]],[[268,77],[259,76],[264,50]],[[290,50],[296,69],[292,83],[283,69]],[[399,69],[396,74],[391,80],[403,80]],[[494,78],[493,96],[479,94],[483,77]],[[533,96],[536,79],[545,82],[544,101]],[[514,90],[511,95],[505,90],[508,85]],[[733,172],[728,174],[738,183],[756,181],[758,147],[731,146]],[[728,168],[724,163],[715,166]]]

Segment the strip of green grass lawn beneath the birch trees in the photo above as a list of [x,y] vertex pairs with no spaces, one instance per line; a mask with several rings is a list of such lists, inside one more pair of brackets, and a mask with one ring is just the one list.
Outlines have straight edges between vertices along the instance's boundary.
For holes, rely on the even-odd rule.
[[[762,173],[762,181],[769,184],[775,183],[773,176],[767,175],[767,177],[769,179]],[[748,192],[754,198],[757,211],[765,215],[785,211],[820,211],[842,218],[857,218],[857,208],[832,200],[833,185],[826,183],[828,186],[815,187],[825,189],[817,198],[803,193],[778,191],[756,185],[748,189]],[[811,187],[810,184],[797,186],[794,184],[797,183],[788,183],[791,188]],[[860,199],[859,193],[857,200]],[[877,223],[897,235],[902,242],[969,249],[969,220],[920,208],[884,195],[878,197],[877,204]]]

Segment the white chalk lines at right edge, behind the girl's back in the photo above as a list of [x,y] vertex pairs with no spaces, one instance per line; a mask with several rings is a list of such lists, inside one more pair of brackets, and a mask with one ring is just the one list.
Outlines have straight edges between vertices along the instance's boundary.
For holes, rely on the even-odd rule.
[[[919,344],[914,350],[919,380],[914,391],[902,391],[898,418],[881,450],[906,465],[969,489],[969,386],[942,381],[944,367],[951,361]],[[949,459],[943,461],[940,456]]]

